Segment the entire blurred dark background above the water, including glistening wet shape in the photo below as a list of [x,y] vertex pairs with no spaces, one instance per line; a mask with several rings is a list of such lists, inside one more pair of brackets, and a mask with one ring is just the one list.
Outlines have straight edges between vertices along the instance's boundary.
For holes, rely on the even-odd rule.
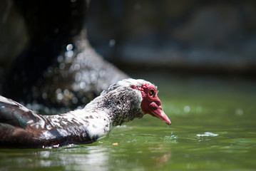
[[0,0],[0,93],[75,108],[134,71],[255,79],[255,18],[251,0]]

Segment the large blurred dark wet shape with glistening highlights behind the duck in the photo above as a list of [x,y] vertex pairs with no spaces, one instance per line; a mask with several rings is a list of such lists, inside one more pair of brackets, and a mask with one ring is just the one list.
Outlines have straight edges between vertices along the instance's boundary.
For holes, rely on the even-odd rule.
[[86,1],[6,1],[8,8],[21,14],[29,41],[4,71],[1,94],[7,98],[34,110],[42,105],[46,112],[44,106],[69,110],[127,78],[89,45]]

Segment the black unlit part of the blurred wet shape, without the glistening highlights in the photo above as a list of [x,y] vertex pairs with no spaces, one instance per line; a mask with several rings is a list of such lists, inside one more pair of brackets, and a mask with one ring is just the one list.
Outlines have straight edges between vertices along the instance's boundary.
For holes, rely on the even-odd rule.
[[32,100],[32,86],[81,31],[86,14],[83,4],[83,1],[61,4],[60,1],[15,1],[12,4],[11,8],[16,6],[24,18],[29,42],[4,74],[3,95],[25,103]]

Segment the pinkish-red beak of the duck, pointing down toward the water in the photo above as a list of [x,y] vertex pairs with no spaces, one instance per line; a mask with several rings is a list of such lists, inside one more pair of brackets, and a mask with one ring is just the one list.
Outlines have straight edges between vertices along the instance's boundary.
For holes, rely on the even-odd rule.
[[168,116],[165,114],[165,112],[163,111],[163,108],[161,106],[156,105],[155,103],[150,103],[150,115],[152,115],[153,117],[159,118],[160,120],[162,120],[163,122],[165,122],[166,124],[170,125],[170,119],[168,118]]

